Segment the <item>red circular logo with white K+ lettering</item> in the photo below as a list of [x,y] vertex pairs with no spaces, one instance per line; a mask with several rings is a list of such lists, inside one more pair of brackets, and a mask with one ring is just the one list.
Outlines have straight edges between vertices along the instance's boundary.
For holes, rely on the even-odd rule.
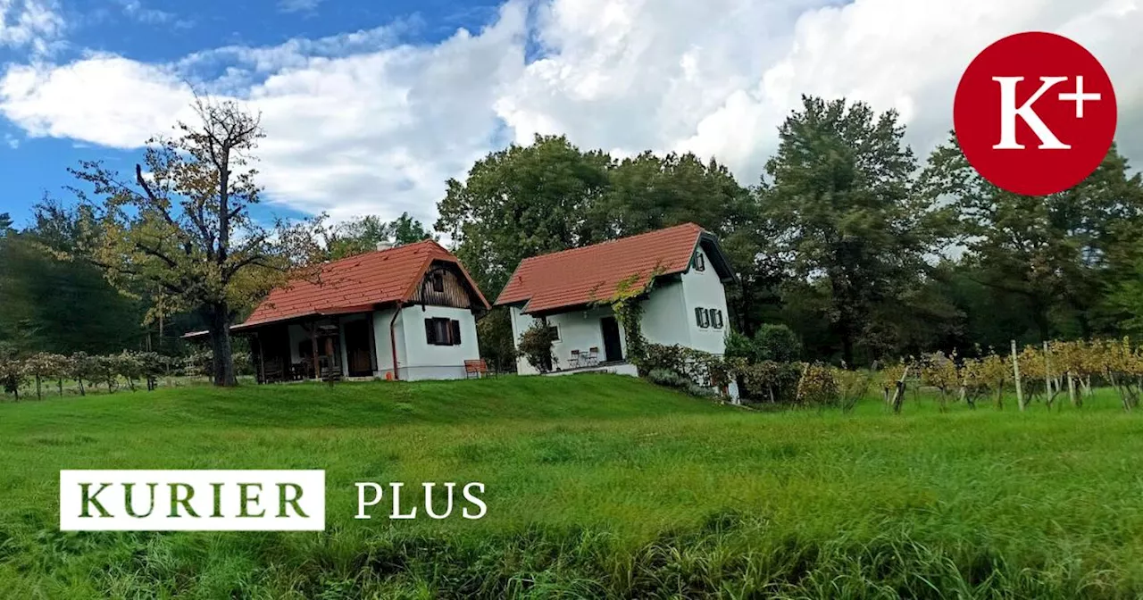
[[953,128],[968,162],[997,187],[1062,192],[1103,161],[1116,91],[1100,61],[1063,35],[1029,32],[984,49],[965,71]]

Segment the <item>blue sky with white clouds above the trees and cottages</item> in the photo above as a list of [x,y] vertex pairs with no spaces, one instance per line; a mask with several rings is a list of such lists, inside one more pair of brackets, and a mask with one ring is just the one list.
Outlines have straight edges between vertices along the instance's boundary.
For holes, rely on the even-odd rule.
[[535,134],[692,151],[756,183],[801,94],[897,110],[925,157],[992,41],[1055,31],[1104,64],[1143,160],[1143,0],[0,0],[0,213],[66,169],[129,171],[192,88],[262,114],[263,216],[409,211]]

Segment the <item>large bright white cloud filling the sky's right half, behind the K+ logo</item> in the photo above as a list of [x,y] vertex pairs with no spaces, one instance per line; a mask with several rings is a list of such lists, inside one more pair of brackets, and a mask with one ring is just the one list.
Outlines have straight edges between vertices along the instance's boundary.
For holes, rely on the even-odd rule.
[[[1143,114],[1143,13],[1134,0],[555,0],[528,65],[497,104],[520,142],[567,131],[581,145],[717,155],[753,183],[802,94],[896,109],[924,158],[951,128],[957,82],[992,41],[1060,31],[1118,85],[1125,121]],[[1143,123],[1141,123],[1143,125]],[[1138,128],[1121,145],[1143,160]]]

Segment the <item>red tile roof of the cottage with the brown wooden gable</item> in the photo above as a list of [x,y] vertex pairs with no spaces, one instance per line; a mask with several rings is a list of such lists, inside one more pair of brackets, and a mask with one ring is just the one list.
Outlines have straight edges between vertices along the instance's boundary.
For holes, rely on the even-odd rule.
[[296,280],[275,288],[235,328],[312,314],[363,312],[376,304],[406,302],[433,262],[456,264],[480,303],[488,307],[461,262],[439,243],[425,240],[329,262],[321,266],[317,282]]

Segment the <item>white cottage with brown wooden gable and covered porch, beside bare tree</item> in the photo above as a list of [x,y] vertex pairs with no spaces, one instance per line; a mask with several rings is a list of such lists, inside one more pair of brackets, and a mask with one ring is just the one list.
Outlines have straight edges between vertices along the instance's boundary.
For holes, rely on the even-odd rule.
[[461,262],[426,240],[327,263],[231,330],[249,336],[259,382],[453,379],[480,359],[477,317],[488,309]]

